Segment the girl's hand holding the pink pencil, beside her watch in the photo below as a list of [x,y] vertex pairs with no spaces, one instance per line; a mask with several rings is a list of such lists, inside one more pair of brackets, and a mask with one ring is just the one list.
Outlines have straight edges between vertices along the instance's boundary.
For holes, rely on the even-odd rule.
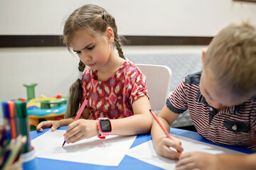
[[68,125],[68,129],[63,134],[66,143],[78,142],[82,139],[87,139],[100,135],[97,128],[97,120],[79,119]]

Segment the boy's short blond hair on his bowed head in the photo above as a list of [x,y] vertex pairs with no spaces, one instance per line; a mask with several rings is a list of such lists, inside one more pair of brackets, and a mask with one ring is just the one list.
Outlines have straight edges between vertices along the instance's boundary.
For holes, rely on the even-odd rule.
[[256,91],[256,28],[250,23],[230,24],[210,42],[204,69],[218,84],[239,96]]

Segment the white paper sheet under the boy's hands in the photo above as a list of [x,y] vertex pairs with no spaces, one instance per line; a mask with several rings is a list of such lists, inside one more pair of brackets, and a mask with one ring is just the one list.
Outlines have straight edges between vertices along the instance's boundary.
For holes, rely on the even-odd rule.
[[[197,140],[191,140],[187,137],[181,137],[179,135],[172,135],[181,141],[181,145],[185,152],[206,152],[209,154],[243,154],[242,152],[237,152],[231,149],[226,149],[224,147],[218,147],[215,145],[210,145],[205,142],[199,142]],[[148,164],[153,164],[154,166],[159,166],[162,169],[175,169],[175,165],[178,162],[174,159],[167,159],[166,157],[160,157],[156,154],[152,140],[138,145],[129,149],[127,153],[130,157],[134,157]]]

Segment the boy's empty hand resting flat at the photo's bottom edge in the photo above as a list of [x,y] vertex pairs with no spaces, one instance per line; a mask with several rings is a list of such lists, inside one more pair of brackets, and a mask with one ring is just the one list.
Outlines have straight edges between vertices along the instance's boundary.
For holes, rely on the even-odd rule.
[[203,152],[186,152],[176,164],[175,170],[213,170],[218,169],[217,156],[215,154],[207,154]]

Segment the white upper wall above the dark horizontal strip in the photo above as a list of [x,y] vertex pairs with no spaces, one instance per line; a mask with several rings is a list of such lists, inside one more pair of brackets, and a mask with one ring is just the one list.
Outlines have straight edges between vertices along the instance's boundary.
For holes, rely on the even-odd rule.
[[233,0],[0,0],[0,35],[61,35],[63,21],[83,4],[116,18],[121,35],[213,36],[228,23],[256,23],[256,3]]

